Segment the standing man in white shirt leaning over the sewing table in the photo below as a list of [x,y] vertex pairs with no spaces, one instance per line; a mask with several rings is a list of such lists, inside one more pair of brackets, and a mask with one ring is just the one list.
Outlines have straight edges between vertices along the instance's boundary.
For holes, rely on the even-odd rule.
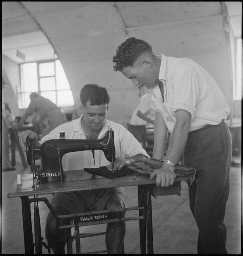
[[[229,195],[232,143],[224,119],[230,108],[212,76],[187,58],[154,55],[152,47],[134,37],[123,42],[113,57],[114,70],[134,86],[153,90],[153,157],[164,159],[154,171],[157,186],[172,185],[175,165],[195,167],[189,187],[190,209],[199,229],[198,253],[226,254],[225,207]],[[167,129],[171,133],[164,158]]]

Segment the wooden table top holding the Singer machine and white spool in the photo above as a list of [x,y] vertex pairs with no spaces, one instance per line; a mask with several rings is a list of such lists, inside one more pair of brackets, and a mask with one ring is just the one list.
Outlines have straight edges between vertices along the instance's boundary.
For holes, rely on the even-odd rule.
[[[60,192],[73,192],[81,190],[90,189],[101,189],[101,188],[115,188],[124,186],[134,186],[134,185],[148,185],[155,184],[155,179],[149,179],[147,175],[139,175],[134,179],[133,175],[127,175],[123,177],[116,178],[101,178],[101,179],[86,179],[81,180],[82,173],[84,170],[76,171],[65,171],[66,181],[39,184],[33,186],[33,174],[23,174],[22,184],[17,184],[17,178],[15,179],[9,193],[8,197],[23,197],[23,196],[33,196],[40,194],[53,194]],[[35,179],[36,183],[36,179]]]

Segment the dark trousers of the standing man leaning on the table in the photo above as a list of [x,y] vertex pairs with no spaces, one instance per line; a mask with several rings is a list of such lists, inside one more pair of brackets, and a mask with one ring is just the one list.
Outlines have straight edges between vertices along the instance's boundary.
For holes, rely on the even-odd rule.
[[231,155],[231,135],[224,121],[188,134],[183,159],[196,169],[195,181],[188,187],[190,209],[199,229],[198,254],[227,254],[224,215]]

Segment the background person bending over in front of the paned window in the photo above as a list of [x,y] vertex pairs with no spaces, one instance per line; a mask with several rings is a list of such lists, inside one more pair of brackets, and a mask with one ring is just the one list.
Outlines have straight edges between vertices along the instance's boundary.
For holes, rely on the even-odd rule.
[[29,107],[20,119],[19,126],[23,125],[28,116],[33,115],[34,112],[33,126],[40,138],[49,134],[62,123],[67,122],[65,114],[51,100],[37,93],[31,93]]

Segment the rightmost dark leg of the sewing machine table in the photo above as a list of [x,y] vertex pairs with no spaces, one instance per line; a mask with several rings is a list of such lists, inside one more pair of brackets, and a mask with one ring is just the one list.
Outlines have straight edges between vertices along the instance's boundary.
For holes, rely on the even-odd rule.
[[152,202],[149,191],[149,185],[145,185],[146,197],[146,230],[147,230],[147,253],[153,254],[153,222],[152,222]]

